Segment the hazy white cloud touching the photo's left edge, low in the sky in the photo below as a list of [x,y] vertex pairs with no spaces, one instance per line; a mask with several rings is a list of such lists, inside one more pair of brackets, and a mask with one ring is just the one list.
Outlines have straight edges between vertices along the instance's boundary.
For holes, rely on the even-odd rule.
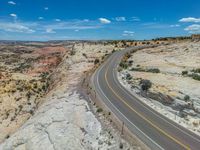
[[8,31],[8,32],[20,32],[20,33],[33,33],[35,30],[30,29],[29,27],[13,22],[2,22],[0,23],[0,30]]

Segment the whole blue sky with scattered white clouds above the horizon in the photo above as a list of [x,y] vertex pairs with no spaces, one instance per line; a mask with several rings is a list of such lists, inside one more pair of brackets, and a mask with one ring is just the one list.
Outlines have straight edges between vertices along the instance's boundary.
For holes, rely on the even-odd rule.
[[144,40],[200,33],[200,0],[1,0],[0,40]]

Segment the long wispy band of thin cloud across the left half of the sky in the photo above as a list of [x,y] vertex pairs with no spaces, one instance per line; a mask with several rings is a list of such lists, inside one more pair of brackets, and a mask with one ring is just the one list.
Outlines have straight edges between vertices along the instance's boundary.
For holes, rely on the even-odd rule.
[[[13,16],[13,15],[12,15]],[[40,18],[42,19],[42,18]],[[0,20],[0,32],[20,32],[20,33],[56,33],[56,31],[72,30],[78,32],[80,30],[91,30],[102,28],[96,21],[86,22],[84,20],[69,20],[60,22],[36,21],[36,22],[22,22],[22,21],[6,21]],[[20,34],[19,34],[20,35]]]

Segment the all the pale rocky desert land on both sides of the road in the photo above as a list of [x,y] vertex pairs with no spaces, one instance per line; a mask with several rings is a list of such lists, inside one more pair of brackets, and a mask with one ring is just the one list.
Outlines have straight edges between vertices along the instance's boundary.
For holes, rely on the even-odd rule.
[[112,53],[150,45],[123,56],[120,83],[200,134],[198,40],[2,42],[0,149],[149,149],[121,136],[86,79]]

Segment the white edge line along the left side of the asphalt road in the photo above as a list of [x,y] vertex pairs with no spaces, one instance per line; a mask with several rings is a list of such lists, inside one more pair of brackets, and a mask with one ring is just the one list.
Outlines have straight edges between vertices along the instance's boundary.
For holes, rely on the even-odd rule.
[[[157,147],[159,147],[161,150],[164,150],[163,147],[161,147],[160,145],[158,145],[154,140],[152,140],[149,136],[147,136],[144,132],[142,132],[137,126],[135,126],[110,100],[109,98],[104,94],[104,92],[102,91],[100,85],[99,85],[99,72],[100,70],[102,70],[103,66],[98,70],[97,72],[97,85],[101,91],[101,93],[103,94],[103,96],[108,100],[108,102],[113,106],[113,108],[115,108],[115,110],[117,110],[129,123],[131,123],[140,133],[142,133],[147,139],[149,139],[152,143],[154,143]],[[95,82],[94,82],[95,83]]]

